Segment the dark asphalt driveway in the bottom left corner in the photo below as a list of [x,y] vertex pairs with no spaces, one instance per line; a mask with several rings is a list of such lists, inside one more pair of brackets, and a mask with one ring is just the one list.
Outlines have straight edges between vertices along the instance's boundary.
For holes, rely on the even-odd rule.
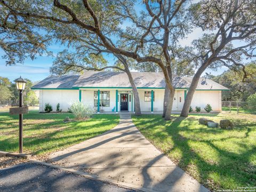
[[132,192],[134,190],[34,163],[0,169],[0,191]]

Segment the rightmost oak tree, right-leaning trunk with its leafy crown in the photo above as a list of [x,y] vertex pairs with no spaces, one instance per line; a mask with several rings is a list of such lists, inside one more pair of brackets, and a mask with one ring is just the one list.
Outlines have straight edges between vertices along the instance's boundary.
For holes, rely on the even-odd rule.
[[193,49],[187,53],[197,69],[181,116],[188,116],[197,82],[206,68],[242,69],[246,81],[244,59],[256,57],[255,12],[255,0],[201,0],[189,7],[191,24],[201,28],[203,35],[193,41]]

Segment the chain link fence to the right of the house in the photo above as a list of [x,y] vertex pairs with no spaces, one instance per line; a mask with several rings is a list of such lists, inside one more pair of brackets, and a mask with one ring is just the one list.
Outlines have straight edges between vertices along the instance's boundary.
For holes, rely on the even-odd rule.
[[252,103],[245,101],[222,101],[222,113],[249,113],[256,114]]

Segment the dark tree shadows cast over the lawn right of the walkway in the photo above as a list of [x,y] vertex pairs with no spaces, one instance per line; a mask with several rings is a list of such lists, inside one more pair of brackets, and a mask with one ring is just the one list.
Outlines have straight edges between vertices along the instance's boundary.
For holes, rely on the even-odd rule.
[[[143,117],[143,121],[147,122],[147,118]],[[161,121],[157,122],[156,124],[151,124],[147,127],[145,127],[143,130],[150,130],[149,132],[144,132],[146,136],[149,137],[149,134],[153,133],[153,136],[151,137],[157,137],[159,138],[159,141],[167,141],[167,138],[171,138],[173,141],[173,145],[169,147],[169,150],[164,150],[164,153],[168,155],[171,159],[173,159],[178,166],[181,167],[181,169],[186,170],[189,174],[194,176],[195,178],[199,179],[199,182],[202,182],[206,185],[206,187],[210,187],[211,189],[215,188],[218,189],[218,187],[221,188],[229,188],[234,186],[246,186],[246,185],[255,185],[256,176],[255,176],[255,170],[256,166],[252,165],[252,157],[253,154],[255,154],[256,146],[253,145],[249,147],[247,150],[237,154],[233,151],[230,151],[225,148],[220,148],[219,146],[215,145],[215,141],[221,141],[225,142],[229,139],[242,139],[239,141],[239,143],[244,145],[243,139],[246,139],[249,137],[250,132],[252,131],[252,127],[255,126],[255,124],[251,124],[251,126],[243,127],[243,129],[235,129],[235,130],[221,130],[221,129],[191,129],[191,126],[195,126],[194,123],[184,123],[184,120],[186,118],[178,117],[175,120],[172,121],[164,121],[161,118]],[[140,125],[143,124],[143,121],[140,122]],[[157,118],[156,118],[157,121]],[[191,120],[190,121],[197,121],[197,120]],[[181,123],[183,124],[181,125]],[[137,125],[137,124],[136,124]],[[157,128],[157,127],[165,127],[163,128]],[[138,125],[139,126],[139,125]],[[161,131],[157,131],[157,129],[160,129]],[[243,133],[246,130],[245,133]],[[142,133],[143,133],[143,130]],[[153,131],[154,130],[154,131]],[[193,138],[193,137],[186,137],[184,135],[184,132],[187,133],[206,133],[206,134],[223,134],[225,132],[232,131],[241,131],[242,136],[237,137],[236,135],[230,136],[227,135],[227,138],[220,138],[220,139],[211,139],[211,138],[204,138],[199,139]],[[167,133],[167,134],[166,134]],[[196,143],[196,145],[200,145],[199,143],[210,146],[215,153],[217,153],[218,161],[212,162],[212,159],[207,159],[202,154],[203,150],[197,151],[193,147],[191,147],[191,143]],[[162,143],[161,143],[162,145]],[[228,143],[227,143],[228,145]],[[174,158],[172,156],[173,151],[180,151],[179,152],[179,158]],[[248,165],[253,166],[254,174],[253,172],[248,172]],[[193,169],[191,169],[191,166],[194,166],[197,170],[197,173],[193,173]],[[192,167],[193,168],[193,167]],[[247,170],[247,171],[245,171]],[[217,175],[215,178],[213,175]],[[199,176],[199,177],[198,177]],[[218,181],[222,180],[221,182]],[[211,183],[214,180],[213,183]]]

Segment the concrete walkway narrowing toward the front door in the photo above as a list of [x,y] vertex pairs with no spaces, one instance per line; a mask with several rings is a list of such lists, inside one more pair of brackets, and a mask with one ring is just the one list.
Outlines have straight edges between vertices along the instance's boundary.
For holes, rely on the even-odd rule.
[[155,191],[208,191],[157,150],[138,131],[130,114],[114,129],[50,158],[65,166]]

